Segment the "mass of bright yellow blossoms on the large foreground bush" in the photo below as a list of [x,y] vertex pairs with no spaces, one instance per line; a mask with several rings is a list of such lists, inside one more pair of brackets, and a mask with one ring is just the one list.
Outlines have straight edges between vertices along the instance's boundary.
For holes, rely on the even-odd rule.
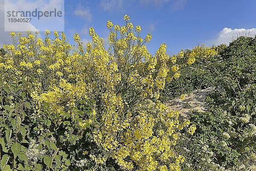
[[[86,51],[77,33],[74,35],[77,48],[67,43],[63,32],[61,39],[54,32],[52,41],[49,30],[44,32],[44,41],[32,34],[20,37],[17,47],[4,46],[8,55],[0,63],[1,73],[2,70],[6,75],[19,73],[17,77],[35,73],[38,82],[34,82],[37,86],[31,93],[36,105],[35,117],[43,113],[43,103],[49,104],[49,115],[73,116],[81,101],[96,100],[92,112],[76,125],[81,139],[84,130],[94,125],[90,127],[91,141],[99,151],[107,152],[84,153],[90,154],[88,157],[96,165],[114,159],[123,170],[180,171],[184,158],[175,154],[174,146],[178,131],[189,125],[189,121],[180,122],[179,113],[166,112],[166,105],[158,100],[166,81],[180,76],[179,65],[175,64],[177,57],[171,58],[174,65],[169,68],[166,44],[161,44],[155,55],[151,55],[145,46],[151,35],[146,35],[142,43],[139,34],[134,36],[133,24],[128,22],[130,17],[125,15],[124,20],[125,26],[114,25],[114,30],[108,20],[108,50],[92,27],[89,29],[92,43],[87,43]],[[135,32],[140,31],[140,26],[136,26]],[[27,57],[14,61],[13,57],[20,54],[17,50]],[[183,53],[178,57],[183,58]],[[54,122],[61,125],[64,118]],[[194,127],[190,127],[189,132],[193,131]]]

